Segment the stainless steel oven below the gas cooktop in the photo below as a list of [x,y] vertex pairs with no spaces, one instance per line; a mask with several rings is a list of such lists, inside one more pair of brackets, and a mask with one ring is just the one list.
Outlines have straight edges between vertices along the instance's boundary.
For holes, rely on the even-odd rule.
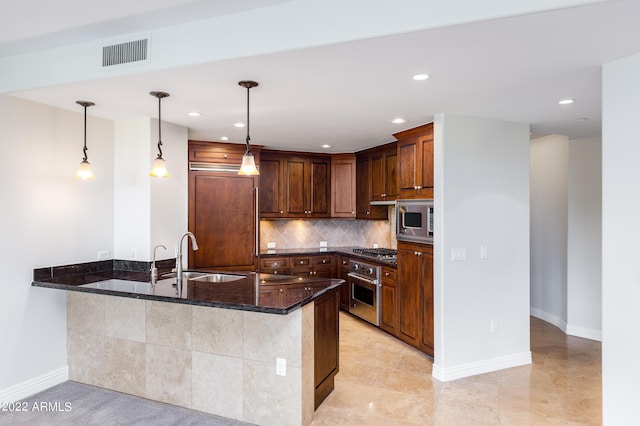
[[380,266],[349,261],[349,312],[374,325],[380,325]]

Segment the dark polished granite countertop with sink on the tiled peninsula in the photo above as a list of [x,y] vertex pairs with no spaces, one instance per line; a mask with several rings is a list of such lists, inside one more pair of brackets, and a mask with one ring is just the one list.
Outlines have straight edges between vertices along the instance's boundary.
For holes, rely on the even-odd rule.
[[[90,264],[36,269],[32,285],[59,290],[284,315],[306,305],[328,291],[337,289],[344,282],[343,280],[326,278],[221,272],[238,275],[240,279],[230,282],[184,280],[181,296],[177,297],[175,278],[160,279],[155,286],[152,286],[148,272],[114,270],[108,269],[109,266],[113,267],[113,263],[91,262]],[[206,269],[202,272],[215,273],[215,271]],[[286,297],[273,297],[272,294],[267,294],[274,289],[283,288],[286,290],[293,287],[304,287],[307,291],[286,292]]]

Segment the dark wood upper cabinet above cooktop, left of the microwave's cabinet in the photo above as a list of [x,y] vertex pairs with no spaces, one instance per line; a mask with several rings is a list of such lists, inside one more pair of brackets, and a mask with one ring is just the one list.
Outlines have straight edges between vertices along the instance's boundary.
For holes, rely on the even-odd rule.
[[397,144],[371,151],[371,201],[393,201],[398,197]]

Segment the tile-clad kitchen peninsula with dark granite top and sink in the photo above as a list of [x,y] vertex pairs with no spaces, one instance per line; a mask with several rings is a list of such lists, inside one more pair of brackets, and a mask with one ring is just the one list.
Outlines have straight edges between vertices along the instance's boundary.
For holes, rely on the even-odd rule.
[[70,380],[261,425],[308,425],[333,389],[341,280],[187,279],[178,297],[175,278],[89,269],[34,271],[68,291]]

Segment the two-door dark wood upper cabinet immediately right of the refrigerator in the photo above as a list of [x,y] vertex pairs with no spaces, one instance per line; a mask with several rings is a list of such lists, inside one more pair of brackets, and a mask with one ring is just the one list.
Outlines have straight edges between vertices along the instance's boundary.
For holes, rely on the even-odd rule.
[[331,215],[331,159],[263,151],[260,217],[328,218]]

